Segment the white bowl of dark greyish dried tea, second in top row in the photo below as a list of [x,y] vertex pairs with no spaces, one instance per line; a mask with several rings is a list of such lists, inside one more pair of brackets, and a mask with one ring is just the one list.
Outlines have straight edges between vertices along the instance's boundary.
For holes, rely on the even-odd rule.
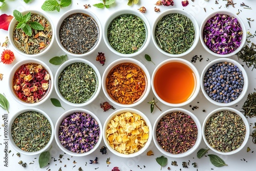
[[57,44],[71,56],[92,54],[99,46],[101,37],[100,20],[89,10],[69,10],[60,16],[56,25]]

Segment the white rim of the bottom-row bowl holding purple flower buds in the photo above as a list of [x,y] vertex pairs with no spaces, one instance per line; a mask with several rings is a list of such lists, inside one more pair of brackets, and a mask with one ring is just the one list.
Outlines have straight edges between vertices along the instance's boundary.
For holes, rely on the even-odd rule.
[[[85,152],[85,153],[74,153],[74,152],[71,152],[69,151],[67,148],[63,147],[62,144],[60,143],[59,141],[59,125],[61,124],[62,120],[69,116],[69,115],[72,115],[74,112],[83,112],[83,113],[86,113],[86,114],[89,114],[91,115],[97,122],[98,122],[98,125],[99,125],[99,129],[100,129],[100,134],[99,134],[99,139],[98,139],[98,142],[95,144],[95,146],[90,149],[90,151],[88,152]],[[63,113],[57,120],[56,124],[55,124],[55,129],[54,129],[54,137],[55,137],[55,141],[58,145],[58,147],[61,149],[61,151],[63,151],[64,153],[67,153],[68,155],[71,155],[71,156],[75,156],[75,157],[81,157],[81,156],[87,156],[87,155],[90,155],[92,154],[100,145],[101,143],[101,140],[102,140],[102,125],[100,123],[100,120],[99,118],[94,114],[92,113],[91,111],[89,110],[86,110],[86,109],[71,109],[69,111],[66,111],[65,113]]]

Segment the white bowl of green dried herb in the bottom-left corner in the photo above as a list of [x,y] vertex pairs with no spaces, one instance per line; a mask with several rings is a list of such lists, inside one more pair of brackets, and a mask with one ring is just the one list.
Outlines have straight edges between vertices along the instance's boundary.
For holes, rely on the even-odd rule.
[[54,125],[44,111],[26,108],[11,117],[8,135],[15,151],[24,155],[38,155],[50,147],[54,139]]

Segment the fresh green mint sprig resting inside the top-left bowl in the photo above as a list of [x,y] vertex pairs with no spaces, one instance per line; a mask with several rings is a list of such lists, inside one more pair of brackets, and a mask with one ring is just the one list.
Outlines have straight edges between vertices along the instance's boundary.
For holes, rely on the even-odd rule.
[[44,30],[44,27],[38,22],[29,22],[31,17],[31,12],[23,15],[18,10],[13,11],[14,18],[19,22],[16,26],[17,29],[22,29],[26,35],[32,35],[32,29],[34,30]]

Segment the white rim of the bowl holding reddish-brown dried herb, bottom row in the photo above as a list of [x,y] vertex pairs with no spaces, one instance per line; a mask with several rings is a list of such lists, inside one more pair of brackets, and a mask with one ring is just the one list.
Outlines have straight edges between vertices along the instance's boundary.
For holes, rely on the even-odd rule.
[[[191,116],[191,118],[195,121],[196,125],[197,125],[197,129],[198,129],[198,136],[197,136],[197,140],[196,140],[196,143],[193,147],[191,147],[190,149],[188,149],[186,152],[184,153],[180,153],[180,154],[172,154],[172,153],[168,153],[168,152],[165,152],[164,149],[159,145],[159,143],[157,142],[157,138],[156,138],[156,129],[157,129],[157,124],[158,122],[162,119],[163,116],[169,114],[169,113],[172,113],[172,112],[182,112],[186,115],[189,115]],[[173,108],[173,109],[169,109],[169,110],[166,110],[165,112],[161,113],[158,118],[156,119],[155,123],[154,123],[154,126],[153,126],[153,140],[154,140],[154,143],[156,145],[156,147],[158,148],[158,150],[168,156],[168,157],[174,157],[174,158],[181,158],[181,157],[185,157],[185,156],[188,156],[190,155],[191,153],[195,152],[196,149],[198,148],[198,146],[200,145],[201,143],[201,140],[202,140],[202,126],[201,126],[201,123],[199,121],[199,119],[191,112],[185,110],[185,109],[182,109],[182,108]]]

